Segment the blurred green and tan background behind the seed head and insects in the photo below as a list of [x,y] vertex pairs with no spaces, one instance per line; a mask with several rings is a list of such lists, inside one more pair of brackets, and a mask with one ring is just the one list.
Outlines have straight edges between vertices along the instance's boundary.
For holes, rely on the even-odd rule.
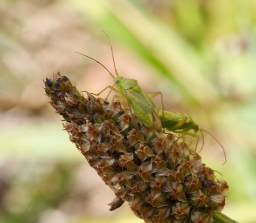
[[[114,72],[161,91],[207,133],[202,161],[223,174],[223,213],[256,222],[255,0],[1,0],[0,222],[143,223],[69,142],[43,81],[61,72],[100,92]],[[104,97],[104,92],[101,97]],[[159,98],[154,98],[159,105]],[[221,178],[217,174],[218,178]]]

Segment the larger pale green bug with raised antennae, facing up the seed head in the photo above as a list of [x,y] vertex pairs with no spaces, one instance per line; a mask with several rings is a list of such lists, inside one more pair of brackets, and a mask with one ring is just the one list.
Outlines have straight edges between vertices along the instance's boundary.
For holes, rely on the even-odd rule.
[[[105,33],[105,32],[104,32]],[[107,36],[108,34],[105,33]],[[110,38],[108,36],[109,43],[111,46]],[[121,97],[115,96],[116,98],[121,98],[124,103],[129,107],[131,114],[134,113],[135,116],[138,118],[138,120],[146,125],[147,127],[157,130],[159,132],[163,132],[162,124],[161,124],[161,119],[159,117],[158,111],[156,106],[153,104],[152,100],[150,99],[151,97],[154,97],[156,95],[161,95],[161,100],[162,100],[162,111],[163,109],[163,98],[162,98],[162,93],[161,92],[154,92],[152,94],[146,94],[138,85],[137,80],[135,79],[125,79],[123,77],[120,77],[118,75],[116,65],[115,65],[115,59],[114,59],[114,54],[113,54],[113,49],[111,46],[111,52],[112,52],[112,59],[114,63],[114,68],[115,68],[115,73],[117,77],[114,77],[114,75],[99,61],[96,59],[93,59],[83,53],[77,52],[85,57],[88,57],[94,61],[96,61],[98,64],[103,66],[107,72],[111,75],[111,77],[114,80],[114,85],[113,86],[107,86],[105,87],[101,92],[99,92],[97,95],[101,94],[104,92],[107,88],[110,88],[111,91],[117,92]],[[114,86],[118,88],[114,88]],[[110,92],[111,92],[110,91]],[[110,94],[109,92],[109,94]],[[108,96],[109,96],[108,94]],[[108,97],[107,96],[107,97]]]

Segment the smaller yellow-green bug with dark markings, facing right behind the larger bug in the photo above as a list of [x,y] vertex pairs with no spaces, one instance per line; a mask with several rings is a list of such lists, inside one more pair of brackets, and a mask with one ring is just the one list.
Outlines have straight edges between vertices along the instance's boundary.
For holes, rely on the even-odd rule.
[[[198,140],[199,136],[197,135],[197,132],[201,131],[203,141],[202,147],[204,145],[203,131],[207,132],[218,142],[218,144],[220,144],[225,157],[225,162],[223,164],[227,162],[227,157],[223,145],[210,132],[208,132],[205,129],[199,128],[199,126],[194,122],[194,120],[189,115],[181,112],[164,111],[159,112],[159,117],[161,118],[162,125],[168,131],[173,131],[175,133],[196,137]],[[194,130],[194,133],[189,132],[189,130]],[[198,140],[196,143],[196,147],[198,144]]]

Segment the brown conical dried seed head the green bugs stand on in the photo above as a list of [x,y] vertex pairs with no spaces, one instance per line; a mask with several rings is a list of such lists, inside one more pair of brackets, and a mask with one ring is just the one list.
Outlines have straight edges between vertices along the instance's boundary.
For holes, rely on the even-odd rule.
[[128,202],[147,223],[212,223],[225,205],[228,185],[172,134],[163,137],[138,122],[120,103],[87,97],[67,77],[46,79],[50,104],[69,139],[114,191],[114,210]]

